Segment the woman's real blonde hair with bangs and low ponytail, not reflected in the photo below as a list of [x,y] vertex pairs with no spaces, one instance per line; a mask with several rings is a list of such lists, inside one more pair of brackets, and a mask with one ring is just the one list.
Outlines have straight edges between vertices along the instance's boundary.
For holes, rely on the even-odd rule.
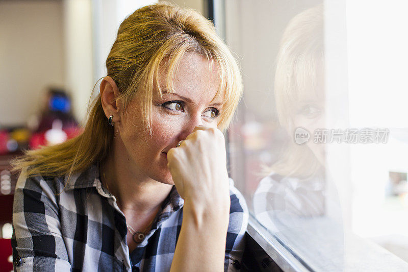
[[[153,92],[155,87],[160,94],[163,92],[159,73],[165,66],[166,91],[173,92],[172,79],[186,53],[205,56],[209,67],[215,63],[219,76],[216,97],[224,98],[218,128],[225,130],[242,95],[242,80],[236,60],[217,36],[212,22],[193,10],[159,3],[136,10],[120,24],[106,60],[108,76],[115,81],[120,92],[116,99],[123,100],[124,108],[138,95],[145,128],[150,134]],[[58,145],[26,151],[25,156],[12,162],[13,170],[28,167],[28,177],[56,177],[83,171],[108,156],[113,133],[98,96],[81,135]]]

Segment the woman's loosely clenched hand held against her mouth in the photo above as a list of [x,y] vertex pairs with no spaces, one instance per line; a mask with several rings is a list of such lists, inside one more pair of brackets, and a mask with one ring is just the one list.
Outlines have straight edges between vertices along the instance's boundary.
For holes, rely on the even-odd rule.
[[177,192],[185,201],[229,203],[225,140],[220,130],[196,127],[179,147],[168,151],[167,161]]

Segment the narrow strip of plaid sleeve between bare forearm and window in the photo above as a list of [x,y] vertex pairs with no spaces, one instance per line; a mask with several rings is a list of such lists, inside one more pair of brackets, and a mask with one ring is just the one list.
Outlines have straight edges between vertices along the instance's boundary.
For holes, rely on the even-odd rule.
[[226,234],[224,271],[240,271],[245,249],[245,232],[248,225],[248,207],[240,191],[230,179],[230,224]]

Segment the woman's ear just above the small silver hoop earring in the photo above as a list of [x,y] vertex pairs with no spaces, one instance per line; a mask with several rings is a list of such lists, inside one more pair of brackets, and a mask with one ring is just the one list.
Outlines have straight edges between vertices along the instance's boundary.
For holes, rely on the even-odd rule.
[[102,80],[100,83],[99,95],[106,118],[113,115],[112,122],[119,122],[121,107],[120,101],[116,100],[119,95],[119,89],[111,77],[105,77]]

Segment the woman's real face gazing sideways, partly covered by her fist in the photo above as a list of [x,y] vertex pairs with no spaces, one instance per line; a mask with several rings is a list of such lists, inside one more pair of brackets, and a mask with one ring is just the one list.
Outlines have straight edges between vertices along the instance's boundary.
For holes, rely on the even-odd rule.
[[[163,73],[161,82],[165,79]],[[167,152],[196,126],[217,127],[222,100],[211,103],[218,89],[218,74],[216,69],[210,73],[207,59],[186,54],[173,83],[174,94],[164,93],[163,98],[154,94],[151,136],[144,130],[138,98],[131,102],[118,124],[115,150],[123,154],[122,162],[139,179],[174,184],[167,168]],[[165,91],[165,84],[161,87]]]

